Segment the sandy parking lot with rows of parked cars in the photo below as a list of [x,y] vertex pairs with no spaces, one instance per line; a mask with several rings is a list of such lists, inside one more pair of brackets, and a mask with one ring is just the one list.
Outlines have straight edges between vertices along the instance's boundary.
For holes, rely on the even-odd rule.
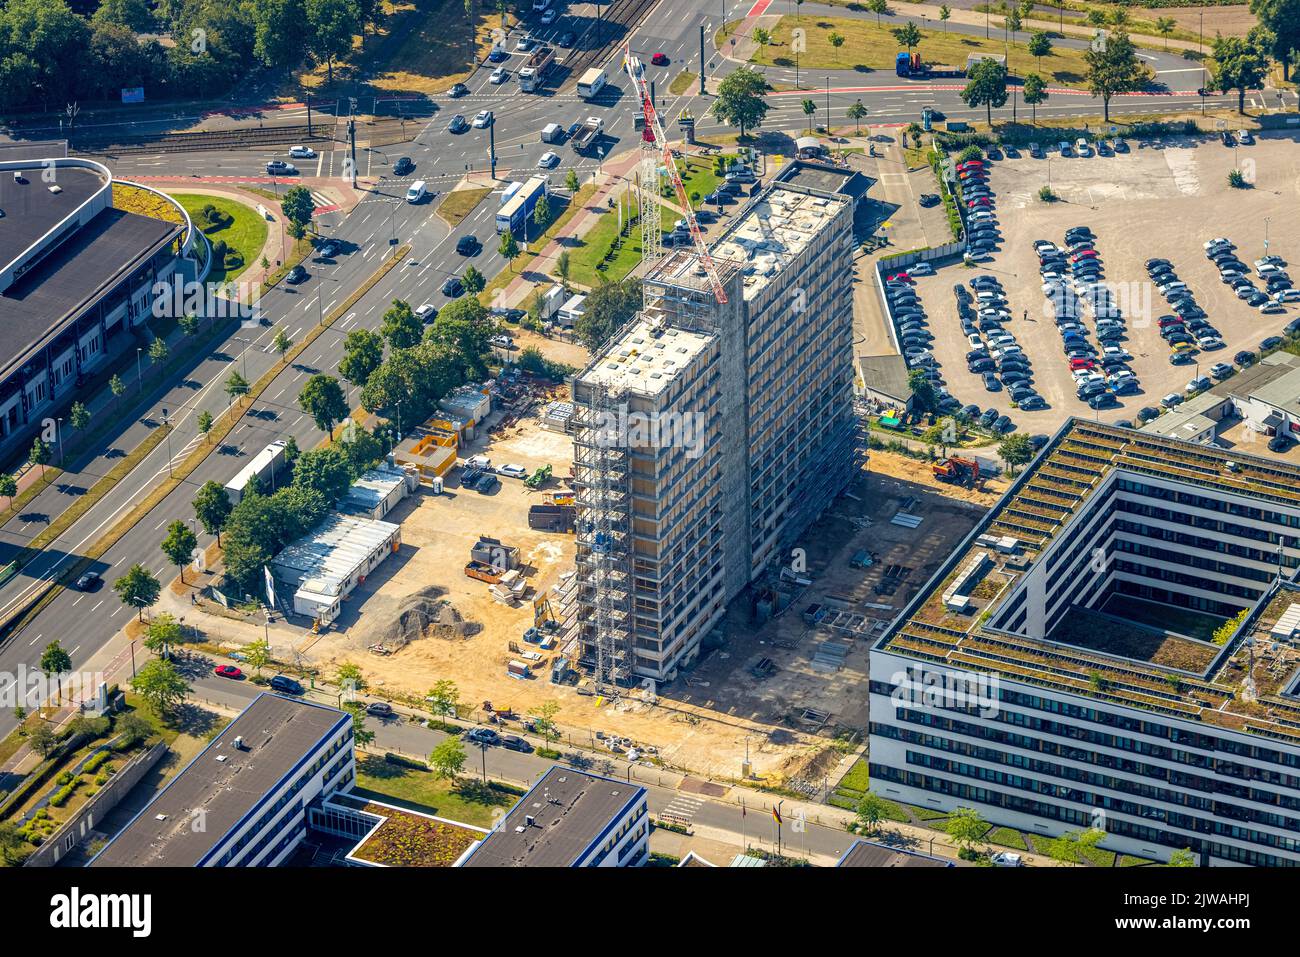
[[[1300,256],[1291,226],[1300,205],[1294,134],[1265,134],[1253,146],[1235,148],[1217,138],[1132,139],[1128,146],[1130,152],[1113,156],[1062,159],[1050,152],[1045,159],[1032,159],[1028,151],[1020,151],[1017,157],[991,163],[988,181],[1001,229],[991,261],[949,265],[916,280],[935,337],[930,348],[946,389],[963,406],[992,406],[1000,415],[1009,415],[1020,430],[1039,433],[1054,430],[1070,415],[1134,420],[1140,408],[1158,406],[1167,393],[1183,391],[1214,363],[1231,363],[1238,351],[1257,350],[1262,339],[1280,333],[1300,315],[1295,303],[1287,303],[1279,315],[1261,315],[1242,302],[1223,285],[1204,250],[1206,241],[1226,237],[1249,267],[1265,255],[1268,230],[1268,254]],[[1228,186],[1234,164],[1253,179],[1253,189]],[[1058,196],[1053,203],[1037,196],[1049,176]],[[1124,320],[1124,337],[1117,345],[1131,354],[1127,365],[1139,381],[1136,393],[1118,397],[1118,404],[1105,410],[1089,408],[1075,395],[1034,248],[1040,239],[1061,246],[1066,230],[1074,226],[1088,226],[1095,234],[1095,248],[1104,264],[1101,280]],[[1170,364],[1170,346],[1161,338],[1157,320],[1171,309],[1144,267],[1153,257],[1167,259],[1187,283],[1221,333],[1221,348],[1193,350],[1191,363]],[[1018,410],[1005,389],[987,391],[983,376],[967,371],[971,345],[962,333],[953,285],[968,287],[970,280],[982,274],[996,277],[1005,289],[1006,330],[1028,358],[1034,389],[1046,408]],[[1249,278],[1258,282],[1253,267]],[[1083,309],[1080,321],[1087,338],[1100,347],[1092,311]]]

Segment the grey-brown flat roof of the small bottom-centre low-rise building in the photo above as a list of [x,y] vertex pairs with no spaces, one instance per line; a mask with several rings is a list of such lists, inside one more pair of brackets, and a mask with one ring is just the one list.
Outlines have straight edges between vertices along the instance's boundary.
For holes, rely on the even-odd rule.
[[571,867],[645,793],[637,784],[572,767],[551,767],[464,866]]

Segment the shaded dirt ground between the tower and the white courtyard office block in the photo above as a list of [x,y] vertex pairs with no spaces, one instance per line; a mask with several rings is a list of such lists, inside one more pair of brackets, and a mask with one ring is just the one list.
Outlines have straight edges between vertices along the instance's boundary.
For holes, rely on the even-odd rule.
[[[829,736],[866,733],[870,642],[984,514],[980,505],[915,481],[920,468],[928,476],[922,463],[872,454],[870,471],[854,482],[850,495],[840,498],[805,536],[811,584],[784,596],[784,610],[762,625],[753,622],[748,603],[733,605],[725,646],[703,657],[686,681],[662,690],[664,697],[763,726],[767,733],[750,740],[755,770],[764,770],[768,757],[784,752],[776,768],[786,784],[794,784],[792,779],[820,784],[823,766],[835,753],[824,749]],[[918,528],[890,524],[905,503],[922,518]],[[859,550],[874,553],[875,564],[850,567],[849,559]],[[890,594],[878,585],[892,566],[904,568]],[[810,625],[803,611],[816,603],[857,618],[846,628]],[[818,654],[823,642],[848,646],[840,667],[823,663]],[[754,668],[764,661],[771,670],[759,677]],[[819,732],[822,748],[790,753],[789,745]]]

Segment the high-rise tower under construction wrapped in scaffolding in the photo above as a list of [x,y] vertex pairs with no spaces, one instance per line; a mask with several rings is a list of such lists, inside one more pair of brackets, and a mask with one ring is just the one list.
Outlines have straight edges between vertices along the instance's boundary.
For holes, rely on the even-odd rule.
[[852,174],[800,166],[711,244],[714,276],[694,248],[650,264],[573,381],[578,657],[602,688],[673,679],[858,464]]

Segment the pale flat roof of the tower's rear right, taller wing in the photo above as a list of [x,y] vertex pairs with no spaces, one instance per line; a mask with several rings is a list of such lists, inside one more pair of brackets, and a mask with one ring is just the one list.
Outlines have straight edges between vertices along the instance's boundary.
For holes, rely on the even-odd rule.
[[753,299],[812,244],[849,202],[846,196],[806,192],[776,181],[732,220],[710,254],[741,264],[745,298]]

